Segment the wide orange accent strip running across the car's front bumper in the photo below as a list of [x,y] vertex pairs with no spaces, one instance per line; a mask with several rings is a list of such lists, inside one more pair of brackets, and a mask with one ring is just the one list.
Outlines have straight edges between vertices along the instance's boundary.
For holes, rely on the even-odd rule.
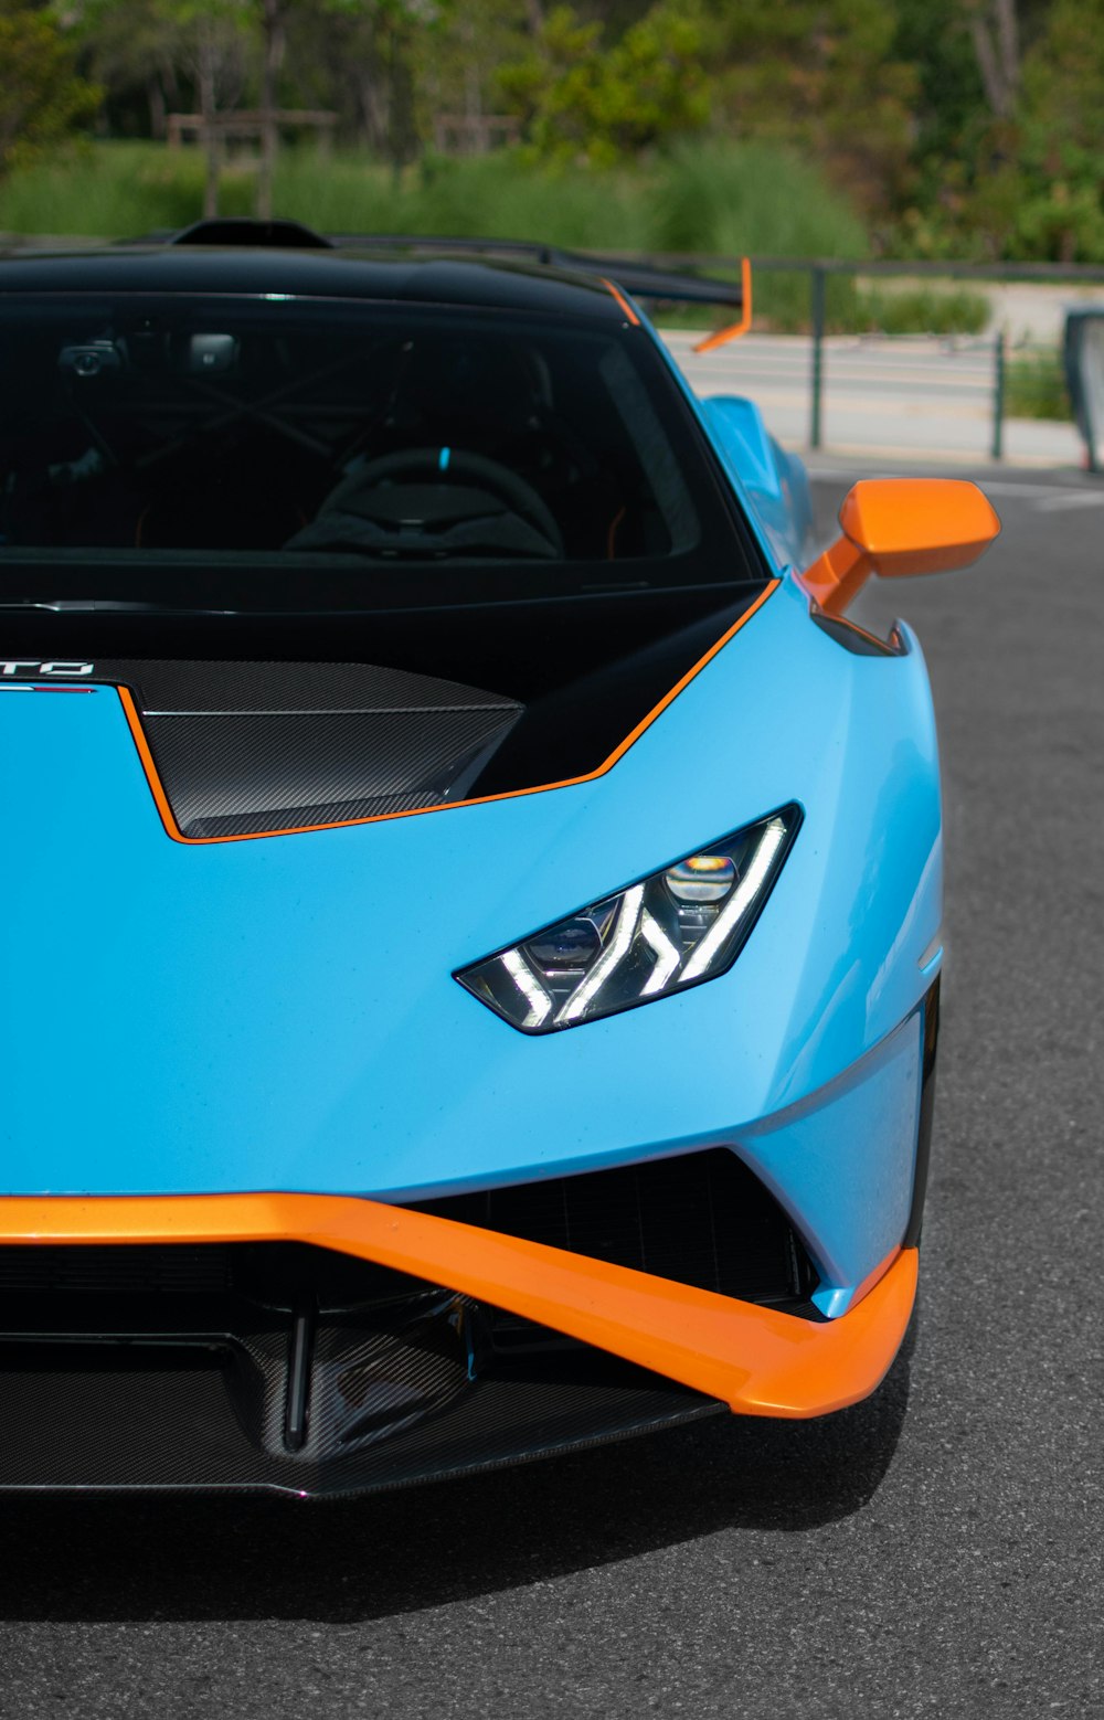
[[0,1199],[0,1244],[306,1242],[552,1326],[745,1416],[825,1416],[879,1385],[908,1326],[917,1249],[815,1323],[378,1201],[322,1194]]

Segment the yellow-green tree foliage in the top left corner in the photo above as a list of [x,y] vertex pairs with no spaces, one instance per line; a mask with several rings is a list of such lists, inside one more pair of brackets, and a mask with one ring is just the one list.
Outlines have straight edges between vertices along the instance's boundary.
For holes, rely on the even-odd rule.
[[88,124],[100,98],[50,14],[0,5],[0,174]]

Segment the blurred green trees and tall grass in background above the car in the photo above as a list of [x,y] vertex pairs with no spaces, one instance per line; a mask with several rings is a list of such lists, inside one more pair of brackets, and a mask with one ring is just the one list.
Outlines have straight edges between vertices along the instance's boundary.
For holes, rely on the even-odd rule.
[[[260,115],[249,150],[213,119]],[[337,151],[277,108],[335,115]],[[172,112],[208,151],[167,151]],[[71,141],[84,139],[84,155]],[[0,225],[1104,261],[1104,0],[0,0]]]

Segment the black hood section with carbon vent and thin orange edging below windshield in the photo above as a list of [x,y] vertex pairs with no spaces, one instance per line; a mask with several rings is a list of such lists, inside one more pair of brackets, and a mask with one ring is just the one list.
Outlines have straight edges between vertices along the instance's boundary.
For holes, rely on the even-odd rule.
[[179,831],[218,839],[590,779],[758,602],[710,587],[394,614],[28,612],[5,617],[3,654],[17,679],[129,688]]

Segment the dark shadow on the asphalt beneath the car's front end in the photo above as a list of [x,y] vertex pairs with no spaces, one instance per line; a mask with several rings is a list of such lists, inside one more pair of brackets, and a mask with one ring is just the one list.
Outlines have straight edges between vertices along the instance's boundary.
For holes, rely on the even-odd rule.
[[363,1500],[0,1500],[0,1620],[354,1624],[724,1529],[860,1510],[905,1422],[917,1321],[879,1391],[820,1421],[715,1416]]

